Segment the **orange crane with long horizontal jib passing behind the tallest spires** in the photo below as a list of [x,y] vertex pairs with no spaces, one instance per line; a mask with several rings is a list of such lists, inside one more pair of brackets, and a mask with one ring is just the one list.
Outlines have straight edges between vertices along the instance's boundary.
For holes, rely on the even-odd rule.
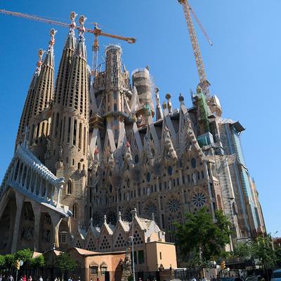
[[[38,22],[46,22],[46,23],[50,23],[52,25],[60,25],[62,27],[71,27],[73,29],[79,30],[79,27],[77,27],[74,22],[74,19],[77,15],[74,12],[72,12],[70,14],[70,19],[72,20],[71,24],[67,24],[65,22],[58,22],[55,20],[48,20],[47,18],[41,18],[41,17],[38,17],[37,15],[28,15],[27,13],[11,12],[11,11],[6,11],[6,10],[2,10],[2,9],[0,9],[0,13],[3,13],[5,15],[13,15],[14,17],[19,17],[19,18],[26,18],[27,20],[36,20]],[[99,49],[98,38],[100,36],[127,41],[129,44],[136,43],[136,39],[133,37],[123,37],[123,36],[119,36],[119,35],[115,35],[115,34],[109,34],[109,33],[102,32],[102,30],[100,28],[98,28],[97,22],[94,22],[93,25],[94,25],[93,30],[91,30],[89,28],[85,28],[85,32],[89,32],[89,33],[93,34],[93,36],[94,36],[93,47],[92,47],[93,60],[92,60],[92,67],[91,67],[91,75],[92,75],[92,77],[96,77],[97,70],[98,70],[98,49]]]

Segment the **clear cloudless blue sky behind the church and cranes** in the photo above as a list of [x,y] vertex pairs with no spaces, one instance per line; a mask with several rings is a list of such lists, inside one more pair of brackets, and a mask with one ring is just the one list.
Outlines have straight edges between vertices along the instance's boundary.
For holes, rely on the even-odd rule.
[[[209,46],[197,30],[211,92],[221,99],[223,117],[239,120],[246,131],[242,145],[247,166],[256,181],[268,232],[281,235],[280,164],[280,0],[190,0],[209,33]],[[183,11],[177,0],[48,0],[4,1],[1,8],[69,21],[70,11],[100,22],[105,32],[136,37],[134,45],[100,39],[100,53],[120,43],[123,62],[131,72],[150,65],[162,100],[178,93],[190,103],[198,77]],[[67,29],[0,15],[0,180],[13,157],[15,135],[39,48],[46,50],[55,27],[55,71]],[[93,37],[86,35],[91,62]]]

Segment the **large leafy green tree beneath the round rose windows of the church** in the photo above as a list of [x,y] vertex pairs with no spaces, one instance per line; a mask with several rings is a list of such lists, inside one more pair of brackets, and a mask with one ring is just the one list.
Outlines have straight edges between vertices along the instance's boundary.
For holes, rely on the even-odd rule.
[[216,211],[215,216],[214,221],[207,209],[202,208],[195,214],[185,214],[183,224],[174,223],[176,244],[185,261],[198,255],[204,262],[223,256],[224,247],[230,242],[231,223],[222,211]]

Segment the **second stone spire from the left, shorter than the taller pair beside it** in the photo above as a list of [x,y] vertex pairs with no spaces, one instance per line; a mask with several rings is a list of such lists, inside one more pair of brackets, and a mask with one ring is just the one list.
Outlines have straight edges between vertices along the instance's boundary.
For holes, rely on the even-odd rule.
[[49,105],[53,99],[53,45],[55,44],[55,32],[55,30],[51,30],[51,40],[34,87],[30,109],[30,147],[34,155],[43,163],[47,147],[46,137],[49,134],[51,122]]

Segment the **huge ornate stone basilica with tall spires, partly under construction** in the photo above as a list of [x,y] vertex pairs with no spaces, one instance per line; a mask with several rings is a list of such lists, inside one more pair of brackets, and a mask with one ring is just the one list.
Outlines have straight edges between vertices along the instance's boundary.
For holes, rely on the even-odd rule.
[[[67,35],[56,80],[54,37],[39,60],[22,110],[15,152],[0,188],[0,253],[55,243],[91,251],[124,249],[136,218],[136,247],[174,242],[173,222],[202,207],[222,210],[232,244],[264,233],[240,122],[222,117],[200,86],[192,107],[160,100],[149,67],[129,74],[122,48],[105,48],[94,79],[84,17]],[[162,96],[162,95],[161,95]],[[133,212],[132,210],[136,209]]]

